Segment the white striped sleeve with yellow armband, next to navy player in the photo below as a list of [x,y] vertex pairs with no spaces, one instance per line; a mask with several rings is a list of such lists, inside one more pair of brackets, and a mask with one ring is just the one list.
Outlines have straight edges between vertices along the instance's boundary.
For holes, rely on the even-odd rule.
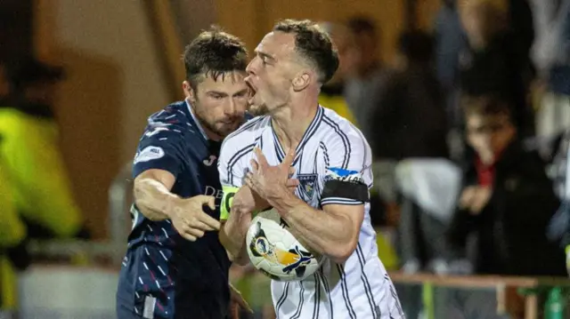
[[233,196],[243,185],[243,178],[249,170],[247,159],[255,145],[255,143],[246,145],[240,143],[240,140],[242,139],[235,137],[231,140],[225,140],[217,162],[220,183],[224,192],[220,207],[221,220],[227,220],[230,216]]

